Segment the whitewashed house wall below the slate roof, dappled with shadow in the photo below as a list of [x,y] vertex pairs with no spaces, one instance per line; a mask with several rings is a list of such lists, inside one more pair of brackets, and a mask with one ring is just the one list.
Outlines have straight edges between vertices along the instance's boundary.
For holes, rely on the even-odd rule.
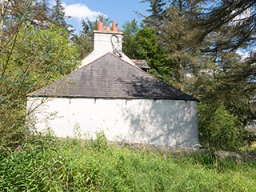
[[[34,109],[34,110],[32,110]],[[197,102],[154,99],[28,98],[37,130],[61,138],[95,138],[103,131],[115,142],[193,147],[198,144]]]

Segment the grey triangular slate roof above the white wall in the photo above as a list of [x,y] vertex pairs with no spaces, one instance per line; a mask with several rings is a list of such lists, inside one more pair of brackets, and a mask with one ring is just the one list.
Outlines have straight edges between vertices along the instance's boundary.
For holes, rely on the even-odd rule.
[[196,100],[110,53],[28,96]]

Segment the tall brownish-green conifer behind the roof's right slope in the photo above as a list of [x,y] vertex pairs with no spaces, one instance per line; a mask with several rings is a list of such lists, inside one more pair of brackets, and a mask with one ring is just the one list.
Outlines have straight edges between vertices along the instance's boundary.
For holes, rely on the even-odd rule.
[[151,15],[144,22],[154,27],[158,44],[166,51],[168,63],[173,70],[172,84],[179,90],[187,91],[187,84],[196,81],[198,74],[200,57],[194,39],[191,38],[196,33],[191,30],[191,23],[201,4],[199,1],[186,0],[148,2]]

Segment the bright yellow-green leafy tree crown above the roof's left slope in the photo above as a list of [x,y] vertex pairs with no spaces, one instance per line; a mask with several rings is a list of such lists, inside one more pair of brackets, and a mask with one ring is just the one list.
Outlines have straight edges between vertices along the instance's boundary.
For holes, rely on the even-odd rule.
[[10,76],[10,71],[14,77],[20,73],[32,78],[32,85],[40,79],[42,86],[70,73],[78,65],[76,47],[70,45],[68,34],[62,28],[50,26],[46,30],[35,30],[23,25],[16,35],[16,41],[10,42],[14,47],[6,46],[6,51],[12,49],[10,57],[3,55],[5,76]]

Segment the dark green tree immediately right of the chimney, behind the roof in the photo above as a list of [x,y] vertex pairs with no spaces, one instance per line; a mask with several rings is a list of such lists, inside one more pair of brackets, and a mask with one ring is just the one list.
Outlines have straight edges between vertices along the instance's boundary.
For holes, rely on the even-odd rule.
[[130,58],[146,59],[150,66],[148,72],[170,84],[172,70],[165,51],[158,45],[156,32],[149,26],[139,27],[136,20],[126,22],[123,28],[124,53]]

